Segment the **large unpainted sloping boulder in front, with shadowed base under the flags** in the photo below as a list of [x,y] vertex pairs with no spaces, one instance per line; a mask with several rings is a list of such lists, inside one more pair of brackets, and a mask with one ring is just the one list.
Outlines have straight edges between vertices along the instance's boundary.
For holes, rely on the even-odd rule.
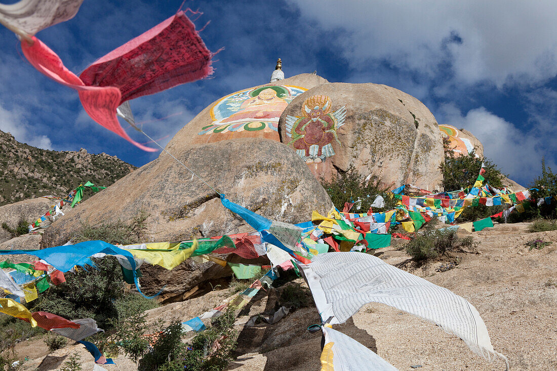
[[[325,213],[332,206],[304,162],[277,141],[244,138],[185,147],[173,140],[168,149],[230,201],[269,219],[299,223],[309,220],[314,209]],[[183,241],[253,231],[222,206],[211,188],[162,153],[52,223],[41,245],[63,245],[80,228],[80,221],[128,220],[139,210],[149,213],[146,241]],[[170,300],[202,281],[224,275],[229,271],[214,263],[194,266],[186,261],[172,272],[148,267],[141,282],[146,289],[157,291],[167,285],[162,298]]]

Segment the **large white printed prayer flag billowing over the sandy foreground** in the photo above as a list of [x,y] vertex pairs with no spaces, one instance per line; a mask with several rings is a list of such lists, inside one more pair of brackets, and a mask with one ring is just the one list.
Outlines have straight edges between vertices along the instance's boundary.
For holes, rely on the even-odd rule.
[[317,310],[330,324],[344,323],[368,302],[380,302],[433,322],[490,359],[495,352],[486,325],[466,299],[359,252],[329,252],[301,265]]

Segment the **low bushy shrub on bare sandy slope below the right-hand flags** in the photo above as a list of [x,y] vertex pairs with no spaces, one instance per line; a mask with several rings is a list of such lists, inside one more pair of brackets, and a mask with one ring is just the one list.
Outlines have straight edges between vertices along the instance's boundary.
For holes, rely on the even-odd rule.
[[[452,251],[470,251],[473,248],[472,237],[458,237],[453,229],[424,230],[414,234],[404,250],[413,260],[423,262],[435,259]],[[466,249],[466,250],[465,250]]]

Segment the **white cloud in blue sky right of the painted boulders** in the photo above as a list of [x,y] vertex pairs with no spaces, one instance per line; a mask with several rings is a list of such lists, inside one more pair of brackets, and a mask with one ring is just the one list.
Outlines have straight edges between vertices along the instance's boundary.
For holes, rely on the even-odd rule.
[[504,173],[527,186],[539,175],[541,158],[540,140],[535,135],[522,134],[513,124],[487,111],[477,108],[463,115],[452,104],[441,106],[441,123],[471,131],[483,144],[483,154],[493,160]]

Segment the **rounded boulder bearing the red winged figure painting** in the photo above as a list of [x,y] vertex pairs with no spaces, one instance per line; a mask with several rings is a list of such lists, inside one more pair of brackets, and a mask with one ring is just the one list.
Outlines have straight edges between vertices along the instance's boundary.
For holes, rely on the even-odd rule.
[[437,121],[419,100],[377,84],[321,84],[292,100],[279,121],[282,143],[317,179],[353,166],[383,187],[412,183],[441,189],[443,144]]

